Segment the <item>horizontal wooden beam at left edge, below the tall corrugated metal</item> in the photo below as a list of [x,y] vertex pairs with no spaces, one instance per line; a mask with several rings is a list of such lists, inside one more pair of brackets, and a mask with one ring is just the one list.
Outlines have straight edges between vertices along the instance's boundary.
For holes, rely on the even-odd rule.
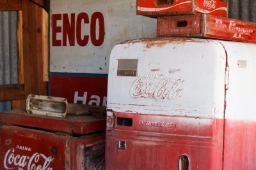
[[0,101],[24,99],[24,85],[0,85]]

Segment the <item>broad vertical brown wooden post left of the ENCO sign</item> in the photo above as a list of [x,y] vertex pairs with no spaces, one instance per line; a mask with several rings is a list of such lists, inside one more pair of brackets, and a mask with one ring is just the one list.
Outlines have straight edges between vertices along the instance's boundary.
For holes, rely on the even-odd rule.
[[24,91],[47,95],[47,82],[42,69],[42,8],[29,0],[22,0]]

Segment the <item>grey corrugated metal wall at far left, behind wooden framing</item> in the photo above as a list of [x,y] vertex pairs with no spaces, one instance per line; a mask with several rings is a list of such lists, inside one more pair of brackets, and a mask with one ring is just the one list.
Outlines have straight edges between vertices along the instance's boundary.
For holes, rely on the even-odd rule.
[[[18,83],[17,11],[0,11],[0,85]],[[0,102],[0,111],[10,110]]]

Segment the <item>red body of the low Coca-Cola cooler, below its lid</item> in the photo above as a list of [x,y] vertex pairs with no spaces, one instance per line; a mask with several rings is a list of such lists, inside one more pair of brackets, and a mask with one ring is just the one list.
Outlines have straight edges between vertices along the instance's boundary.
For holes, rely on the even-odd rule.
[[104,134],[73,137],[8,125],[0,134],[1,169],[85,170],[104,157]]

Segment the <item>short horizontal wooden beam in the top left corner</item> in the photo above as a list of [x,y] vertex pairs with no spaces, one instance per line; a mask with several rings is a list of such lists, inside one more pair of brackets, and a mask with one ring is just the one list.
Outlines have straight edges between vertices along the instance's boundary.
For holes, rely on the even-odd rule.
[[20,11],[22,0],[1,0],[0,10],[4,11]]

